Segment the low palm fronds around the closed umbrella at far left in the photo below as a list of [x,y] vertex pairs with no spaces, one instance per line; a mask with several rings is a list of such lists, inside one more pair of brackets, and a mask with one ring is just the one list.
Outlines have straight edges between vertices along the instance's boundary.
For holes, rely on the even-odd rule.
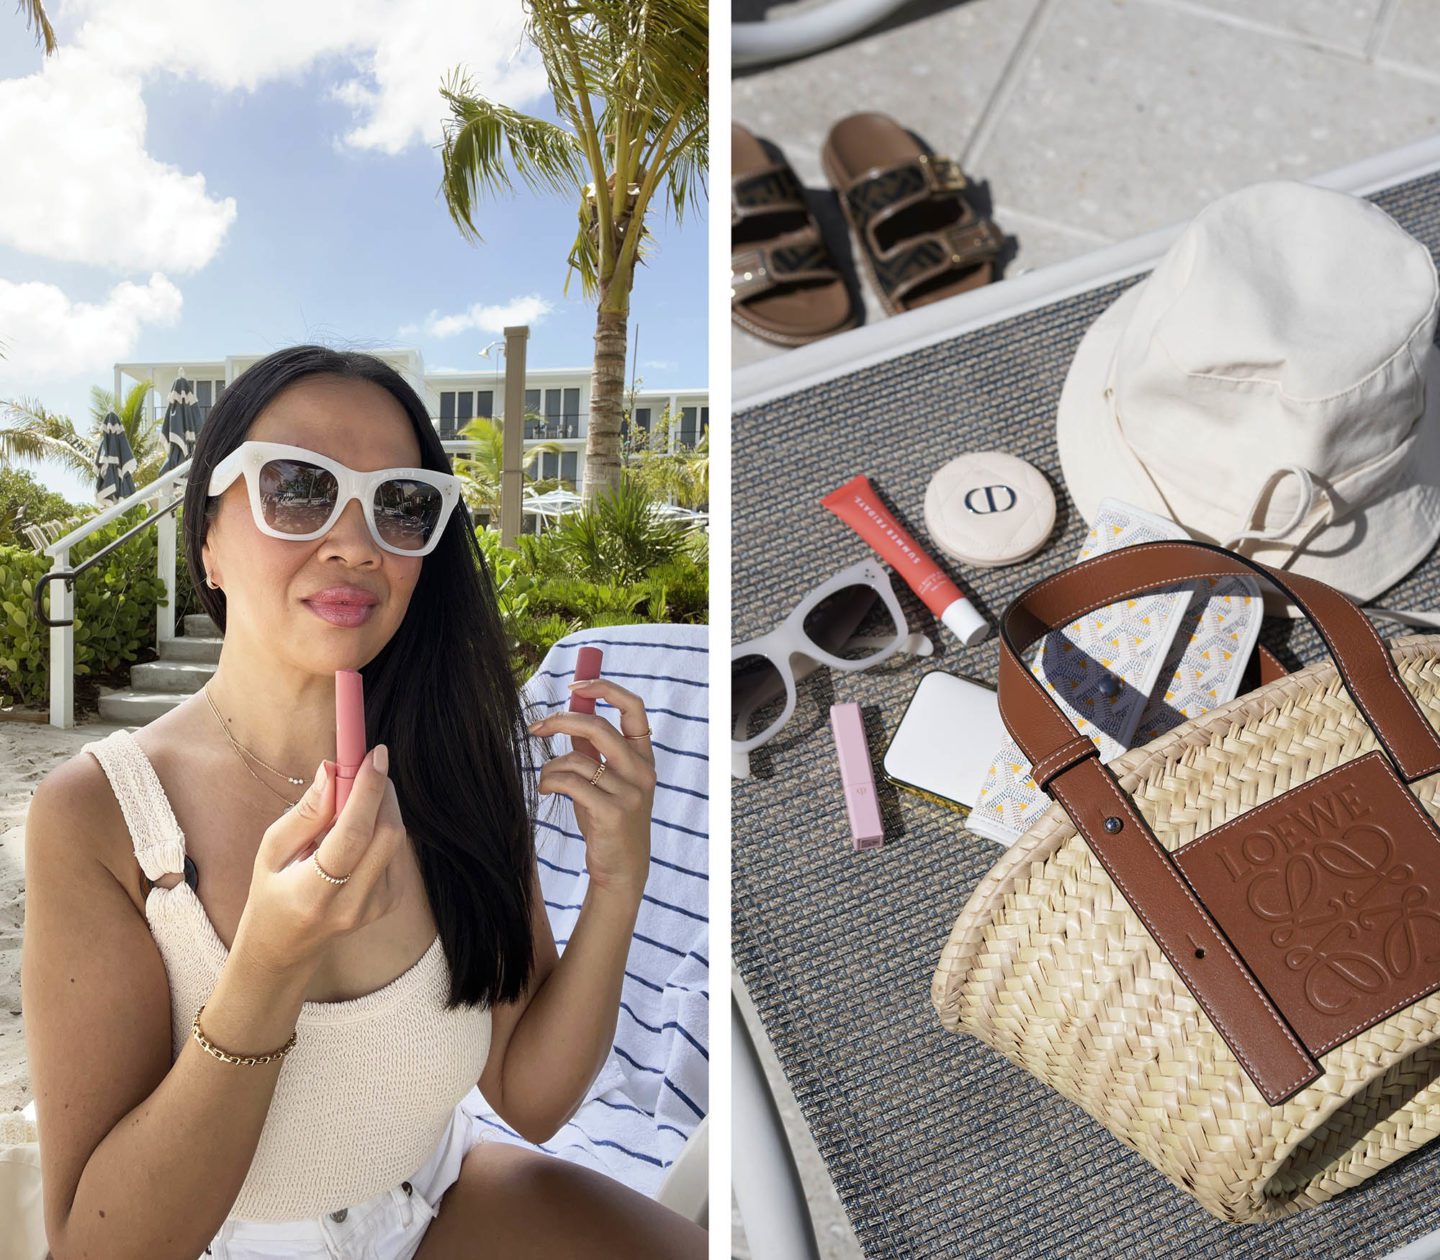
[[117,406],[108,389],[92,387],[89,433],[79,432],[69,416],[48,410],[37,399],[0,402],[0,464],[55,461],[81,480],[94,481],[99,429],[105,415],[114,410],[135,454],[135,488],[148,485],[160,475],[168,454],[160,425],[148,423],[148,382],[137,382]]

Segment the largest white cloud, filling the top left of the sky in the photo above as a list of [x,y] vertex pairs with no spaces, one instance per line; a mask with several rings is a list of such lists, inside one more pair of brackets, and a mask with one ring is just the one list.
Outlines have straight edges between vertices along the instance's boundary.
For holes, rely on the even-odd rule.
[[203,173],[147,151],[143,89],[163,73],[255,91],[333,71],[351,114],[337,143],[386,154],[439,141],[456,65],[513,105],[546,86],[520,0],[429,0],[423,20],[393,0],[72,0],[60,17],[60,52],[0,81],[0,243],[117,272],[202,268],[236,217]]

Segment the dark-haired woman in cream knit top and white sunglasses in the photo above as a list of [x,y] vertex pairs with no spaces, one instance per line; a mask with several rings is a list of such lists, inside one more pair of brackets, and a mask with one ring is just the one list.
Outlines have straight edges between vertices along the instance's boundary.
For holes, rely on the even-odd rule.
[[[704,1254],[691,1223],[484,1142],[459,1106],[478,1083],[540,1142],[583,1100],[615,1032],[655,776],[645,706],[613,683],[585,694],[619,732],[523,724],[448,474],[397,373],[315,346],[245,372],[200,433],[186,559],[219,667],[52,770],[27,818],[22,985],[56,1260]],[[344,668],[364,675],[372,753],[336,816]],[[527,730],[603,759],[539,776],[586,838],[563,959]]]

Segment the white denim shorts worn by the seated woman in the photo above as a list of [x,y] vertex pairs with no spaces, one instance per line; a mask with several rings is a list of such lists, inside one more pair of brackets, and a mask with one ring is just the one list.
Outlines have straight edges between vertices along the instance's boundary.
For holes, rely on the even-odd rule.
[[412,1260],[484,1125],[456,1104],[431,1158],[364,1202],[300,1221],[228,1220],[204,1248],[215,1260]]

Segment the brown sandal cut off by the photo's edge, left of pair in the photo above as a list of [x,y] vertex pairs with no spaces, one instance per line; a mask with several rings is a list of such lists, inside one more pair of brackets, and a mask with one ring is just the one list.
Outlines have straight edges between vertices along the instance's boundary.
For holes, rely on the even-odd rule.
[[730,318],[776,346],[854,324],[854,304],[789,163],[730,125]]

